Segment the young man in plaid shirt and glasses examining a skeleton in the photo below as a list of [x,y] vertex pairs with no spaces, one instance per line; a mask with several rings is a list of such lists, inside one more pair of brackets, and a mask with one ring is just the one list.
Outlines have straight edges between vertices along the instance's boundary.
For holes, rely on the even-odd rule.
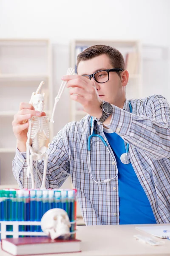
[[[127,101],[125,62],[109,46],[96,45],[80,53],[77,72],[62,80],[68,81],[71,99],[81,103],[88,115],[65,125],[49,145],[46,187],[59,188],[71,175],[87,225],[170,222],[167,100],[153,95]],[[18,148],[13,173],[24,188],[30,188],[31,181],[26,176],[28,123],[23,120],[36,114],[31,105],[22,103],[13,121]],[[89,144],[93,132],[97,136]],[[38,187],[43,164],[38,164]]]

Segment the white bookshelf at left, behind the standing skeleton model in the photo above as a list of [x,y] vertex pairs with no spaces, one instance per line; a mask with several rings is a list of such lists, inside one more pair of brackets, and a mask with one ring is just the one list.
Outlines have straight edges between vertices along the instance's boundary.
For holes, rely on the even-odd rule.
[[[48,39],[0,39],[0,184],[14,186],[12,160],[16,138],[12,131],[20,102],[29,102],[41,81],[45,84],[45,112],[53,108],[51,43]],[[49,124],[50,140],[53,125]]]

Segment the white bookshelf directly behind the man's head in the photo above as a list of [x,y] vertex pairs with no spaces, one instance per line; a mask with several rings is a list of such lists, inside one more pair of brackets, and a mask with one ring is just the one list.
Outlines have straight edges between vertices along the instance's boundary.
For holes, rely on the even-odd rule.
[[[73,40],[70,44],[70,65],[77,70],[77,55],[84,49],[95,45],[105,44],[118,49],[124,56],[125,63],[127,62],[127,70],[129,72],[129,81],[126,86],[127,99],[142,97],[142,47],[140,41],[103,41],[103,40]],[[83,111],[80,104],[71,100],[70,121],[79,121],[86,113]]]

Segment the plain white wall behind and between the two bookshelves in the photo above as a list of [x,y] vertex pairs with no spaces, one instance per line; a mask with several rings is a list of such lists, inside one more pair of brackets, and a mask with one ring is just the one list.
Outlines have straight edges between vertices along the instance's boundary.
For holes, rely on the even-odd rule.
[[[69,67],[72,39],[138,39],[143,45],[165,47],[165,60],[143,61],[143,96],[160,93],[170,100],[169,10],[169,0],[0,0],[0,38],[51,40],[54,96]],[[55,134],[69,122],[67,91],[59,108]]]

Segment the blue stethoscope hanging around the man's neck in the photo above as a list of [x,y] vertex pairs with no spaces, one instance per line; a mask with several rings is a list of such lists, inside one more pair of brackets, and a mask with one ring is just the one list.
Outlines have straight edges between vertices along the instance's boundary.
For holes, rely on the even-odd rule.
[[[130,102],[128,102],[128,103],[129,103],[130,113],[132,113],[132,106],[131,106]],[[93,124],[93,117],[91,117],[91,129],[92,129],[92,124]],[[92,172],[91,172],[91,145],[92,145],[92,143],[94,143],[94,142],[91,143],[91,138],[92,137],[99,137],[100,140],[102,141],[102,143],[107,148],[109,154],[111,155],[111,158],[112,158],[113,162],[116,164],[116,176],[115,177],[113,177],[111,179],[105,179],[105,180],[100,181],[100,182],[94,180],[94,177],[93,177]],[[120,157],[121,162],[124,163],[124,164],[130,163],[128,153],[129,153],[129,143],[127,143],[126,153],[123,153]],[[104,138],[99,134],[95,134],[94,128],[93,128],[93,131],[91,131],[91,135],[88,137],[88,157],[89,157],[90,175],[91,175],[91,178],[94,180],[94,182],[96,182],[98,184],[106,183],[106,182],[110,182],[111,180],[114,180],[117,177],[118,169],[117,169],[116,159],[113,158],[113,156],[111,154],[111,151],[109,150],[108,144],[106,143]]]

